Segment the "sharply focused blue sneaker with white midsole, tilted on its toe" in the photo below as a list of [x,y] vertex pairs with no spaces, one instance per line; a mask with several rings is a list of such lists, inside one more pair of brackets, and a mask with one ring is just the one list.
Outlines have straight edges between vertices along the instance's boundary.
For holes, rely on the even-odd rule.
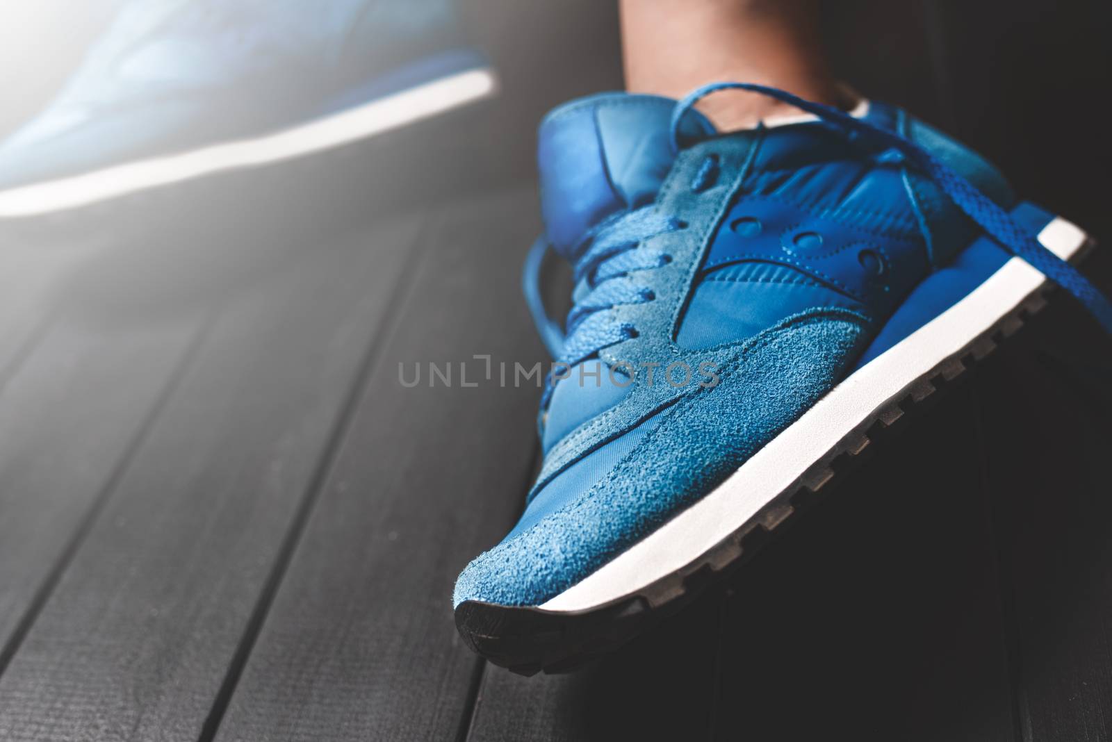
[[[810,120],[718,134],[692,106],[721,88]],[[527,294],[559,360],[544,464],[454,599],[467,643],[518,672],[572,666],[689,600],[1051,283],[1112,331],[1069,262],[1086,235],[891,106],[741,83],[602,94],[545,119],[539,168]],[[537,299],[548,248],[574,268],[566,329]]]

